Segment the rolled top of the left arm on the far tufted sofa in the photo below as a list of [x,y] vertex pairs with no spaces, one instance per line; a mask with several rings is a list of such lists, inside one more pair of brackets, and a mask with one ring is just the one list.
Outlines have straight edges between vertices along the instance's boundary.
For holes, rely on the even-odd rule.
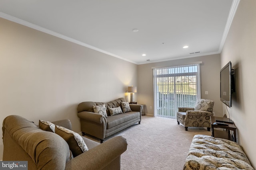
[[81,111],[81,112],[77,113],[77,115],[80,119],[92,121],[95,123],[102,124],[103,122],[104,123],[107,122],[106,117],[99,113],[94,113],[94,112],[90,112],[90,111]]

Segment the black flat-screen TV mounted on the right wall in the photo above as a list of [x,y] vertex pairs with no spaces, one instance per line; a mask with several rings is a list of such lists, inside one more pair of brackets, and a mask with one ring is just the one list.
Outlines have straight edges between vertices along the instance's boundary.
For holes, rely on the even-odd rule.
[[231,62],[228,62],[220,70],[220,101],[231,107],[233,92],[235,92],[234,69],[231,68]]

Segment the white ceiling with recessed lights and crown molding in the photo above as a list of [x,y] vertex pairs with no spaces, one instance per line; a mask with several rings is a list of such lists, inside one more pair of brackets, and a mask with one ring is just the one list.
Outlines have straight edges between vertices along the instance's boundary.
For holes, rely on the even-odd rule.
[[[238,3],[239,0],[0,0],[0,17],[143,64],[220,53]],[[189,47],[183,49],[184,45]],[[198,51],[201,53],[189,54]]]

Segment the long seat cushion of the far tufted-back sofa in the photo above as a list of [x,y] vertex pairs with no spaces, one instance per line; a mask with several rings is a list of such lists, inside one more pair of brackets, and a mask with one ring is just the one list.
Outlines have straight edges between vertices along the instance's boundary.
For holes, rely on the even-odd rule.
[[138,111],[130,111],[114,116],[107,117],[107,129],[110,129],[116,125],[120,125],[126,121],[130,121],[132,119],[136,119],[140,116],[140,112]]

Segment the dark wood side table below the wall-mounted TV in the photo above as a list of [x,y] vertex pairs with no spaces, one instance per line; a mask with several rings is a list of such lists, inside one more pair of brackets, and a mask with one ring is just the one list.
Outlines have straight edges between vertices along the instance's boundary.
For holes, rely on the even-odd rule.
[[[213,123],[219,121],[223,123],[227,123],[228,125],[214,125]],[[230,141],[236,142],[236,126],[233,121],[226,117],[215,117],[211,116],[211,126],[212,126],[212,137],[218,137],[222,139],[228,139]],[[226,130],[214,130],[214,128],[222,128]],[[234,138],[230,134],[230,131],[234,132]]]

